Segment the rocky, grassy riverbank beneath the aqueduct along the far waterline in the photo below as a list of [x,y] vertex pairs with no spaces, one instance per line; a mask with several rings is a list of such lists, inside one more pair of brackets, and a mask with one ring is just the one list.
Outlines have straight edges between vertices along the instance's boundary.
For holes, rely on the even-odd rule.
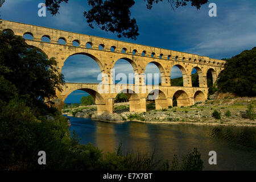
[[[155,110],[154,104],[147,105],[147,112],[129,112],[129,102],[115,105],[115,113],[98,115],[96,106],[79,107],[69,110],[69,116],[92,118],[105,122],[143,122],[156,124],[187,124],[187,125],[223,125],[223,126],[256,126],[256,121],[247,118],[248,105],[256,105],[255,97],[226,98],[222,100],[207,100],[197,102],[187,107],[174,107]],[[216,110],[220,119],[213,117]],[[63,110],[65,111],[65,110]],[[73,113],[73,114],[71,114]],[[112,121],[112,118],[113,121]]]

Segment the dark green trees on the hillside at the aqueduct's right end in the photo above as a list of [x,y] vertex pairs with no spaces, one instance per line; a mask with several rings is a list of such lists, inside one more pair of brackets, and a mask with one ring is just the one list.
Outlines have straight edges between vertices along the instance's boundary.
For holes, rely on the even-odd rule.
[[226,60],[217,86],[220,92],[256,96],[256,47]]

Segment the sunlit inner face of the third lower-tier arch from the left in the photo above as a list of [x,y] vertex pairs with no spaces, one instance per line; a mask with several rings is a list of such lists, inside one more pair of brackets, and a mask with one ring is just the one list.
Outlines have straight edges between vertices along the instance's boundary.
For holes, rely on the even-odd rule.
[[[151,95],[152,94],[152,95]],[[150,96],[150,97],[149,97]],[[148,100],[155,100],[155,109],[168,109],[166,94],[162,90],[153,89],[147,95]]]

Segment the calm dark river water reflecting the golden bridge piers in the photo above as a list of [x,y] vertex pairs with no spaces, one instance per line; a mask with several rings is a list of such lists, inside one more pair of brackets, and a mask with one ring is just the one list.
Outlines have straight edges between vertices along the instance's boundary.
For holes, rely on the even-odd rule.
[[[197,147],[205,170],[256,170],[256,127],[155,125],[149,123],[105,123],[68,117],[70,131],[75,130],[81,143],[94,144],[114,152],[119,142],[124,151],[155,150],[159,159],[172,159]],[[208,152],[217,152],[217,165],[209,165]]]

